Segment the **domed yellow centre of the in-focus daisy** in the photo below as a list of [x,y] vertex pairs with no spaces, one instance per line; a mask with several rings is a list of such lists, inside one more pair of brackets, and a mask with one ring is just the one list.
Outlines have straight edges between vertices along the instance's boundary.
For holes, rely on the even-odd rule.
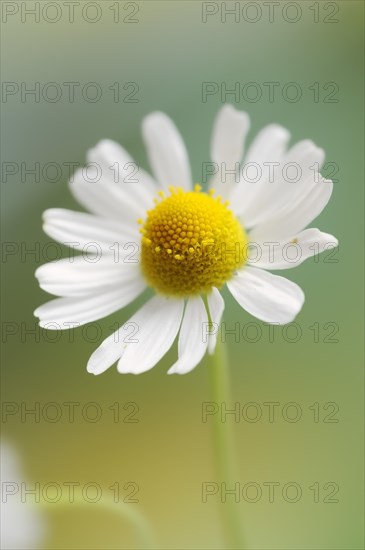
[[170,296],[191,296],[220,288],[246,257],[247,236],[214,191],[170,188],[142,222],[141,266],[147,282]]

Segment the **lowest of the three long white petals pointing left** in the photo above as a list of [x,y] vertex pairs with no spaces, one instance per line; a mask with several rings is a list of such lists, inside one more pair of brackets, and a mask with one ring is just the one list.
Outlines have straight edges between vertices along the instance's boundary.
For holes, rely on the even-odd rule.
[[[132,302],[146,288],[142,279],[132,280],[122,288],[100,294],[57,298],[43,304],[34,312],[39,326],[49,330],[66,330],[102,319]],[[71,324],[71,326],[70,326]]]

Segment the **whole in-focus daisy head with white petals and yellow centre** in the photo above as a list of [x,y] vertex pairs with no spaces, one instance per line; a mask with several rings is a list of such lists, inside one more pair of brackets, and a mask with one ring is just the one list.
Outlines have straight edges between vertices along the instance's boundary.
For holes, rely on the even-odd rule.
[[[168,372],[191,371],[207,350],[214,351],[215,331],[204,338],[202,327],[220,323],[224,301],[218,288],[225,283],[258,319],[291,322],[303,305],[303,291],[265,269],[294,267],[337,246],[333,236],[305,229],[332,193],[332,182],[319,174],[324,152],[311,141],[288,149],[287,130],[267,126],[240,166],[249,118],[226,105],[214,124],[209,168],[215,174],[204,193],[192,185],[186,148],[173,122],[155,112],[142,130],[154,180],[142,170],[133,174],[127,152],[103,140],[89,151],[88,170],[78,170],[70,183],[75,198],[92,213],[44,213],[44,231],[83,255],[36,271],[40,286],[59,296],[35,311],[41,327],[92,322],[125,307],[147,286],[156,292],[93,353],[88,371],[94,374],[116,361],[121,373],[145,372],[177,335],[178,360]],[[252,169],[259,178],[249,174]],[[128,340],[133,327],[134,338]]]

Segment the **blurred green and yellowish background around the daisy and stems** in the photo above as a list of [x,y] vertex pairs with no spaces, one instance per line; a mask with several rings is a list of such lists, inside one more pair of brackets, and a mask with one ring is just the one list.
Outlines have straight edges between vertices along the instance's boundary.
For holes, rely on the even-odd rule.
[[[20,2],[10,4],[21,8]],[[25,4],[30,8],[34,2]],[[42,7],[46,4],[41,2]],[[294,19],[298,7],[285,8],[287,2],[275,8],[273,22],[268,8],[260,3],[262,15],[257,12],[256,23],[247,19],[255,18],[257,2],[253,3],[256,8],[249,8],[252,11],[240,12],[237,22],[227,15],[226,23],[221,20],[221,3],[214,2],[209,9],[219,12],[206,23],[198,1],[96,2],[102,15],[95,23],[81,16],[87,2],[75,7],[73,23],[68,21],[64,3],[57,4],[62,16],[54,23],[48,21],[55,18],[52,6],[41,13],[39,22],[30,15],[22,21],[20,11],[5,22],[3,18],[3,81],[19,86],[25,82],[29,88],[39,82],[41,90],[45,83],[56,82],[63,90],[60,101],[54,103],[42,97],[35,102],[31,96],[22,102],[20,93],[3,96],[3,161],[24,162],[27,167],[35,162],[41,167],[49,162],[82,164],[88,148],[111,138],[148,168],[140,123],[147,113],[159,109],[181,130],[194,179],[199,181],[201,163],[209,160],[213,119],[222,103],[219,94],[202,101],[202,82],[209,81],[226,82],[227,88],[235,82],[261,86],[259,101],[241,98],[235,103],[251,116],[250,140],[265,124],[278,122],[290,129],[293,141],[313,139],[325,149],[327,161],[338,165],[333,198],[313,223],[338,237],[340,249],[333,256],[337,261],[308,260],[283,273],[306,294],[296,320],[302,331],[300,340],[286,341],[278,328],[270,342],[267,327],[225,294],[227,328],[239,321],[243,325],[255,322],[262,329],[257,343],[248,341],[253,336],[239,342],[227,337],[233,385],[232,403],[227,406],[254,402],[262,409],[258,422],[231,420],[237,481],[241,486],[256,482],[263,489],[258,502],[237,504],[248,548],[363,548],[363,3],[291,3],[301,10],[295,23],[285,19]],[[113,21],[116,4],[119,23]],[[130,18],[138,23],[123,22],[136,11],[135,4],[138,13]],[[240,3],[240,9],[245,4]],[[227,8],[233,6],[227,3]],[[87,17],[94,18],[93,7],[88,10]],[[73,103],[68,101],[64,82],[80,83]],[[82,99],[80,89],[88,82],[101,87],[99,101]],[[119,103],[109,90],[115,82],[120,83]],[[139,87],[136,103],[122,101],[131,91],[123,90],[128,82]],[[273,101],[264,82],[279,82]],[[301,86],[300,101],[283,99],[281,92],[288,82]],[[316,82],[318,101],[310,89]],[[324,86],[329,82],[338,85],[333,96],[337,102],[326,100],[331,88]],[[233,102],[234,97],[228,96],[227,101]],[[201,501],[202,482],[216,480],[211,422],[201,421],[202,402],[210,400],[206,364],[187,376],[166,376],[174,349],[141,376],[119,375],[115,368],[99,377],[87,374],[92,351],[116,322],[128,319],[136,304],[98,323],[98,335],[90,329],[85,338],[85,332],[76,330],[73,342],[68,333],[56,338],[40,329],[36,335],[24,332],[36,327],[32,312],[50,298],[38,288],[33,275],[45,260],[24,251],[33,249],[35,243],[42,247],[49,242],[41,230],[44,209],[79,209],[68,191],[67,169],[63,168],[56,182],[49,181],[52,177],[50,169],[49,178],[41,174],[39,182],[32,176],[22,182],[19,172],[2,183],[3,240],[19,245],[2,265],[2,387],[6,402],[20,408],[22,402],[28,407],[35,402],[40,407],[56,402],[63,415],[54,423],[42,416],[40,422],[32,417],[22,422],[20,413],[3,416],[3,435],[21,453],[29,481],[93,481],[109,495],[108,487],[115,482],[121,487],[136,482],[139,503],[129,506],[138,507],[149,519],[160,548],[225,548],[219,523],[224,505],[218,496],[205,504]],[[310,329],[315,323],[318,342]],[[338,325],[333,336],[337,342],[325,341],[333,329],[326,323]],[[71,401],[81,404],[73,423],[62,405]],[[95,423],[80,413],[90,402],[102,409],[102,418]],[[120,422],[113,421],[109,409],[115,402],[120,403]],[[138,423],[122,421],[126,414],[122,408],[128,402],[139,406]],[[280,404],[272,423],[264,402]],[[285,405],[290,402],[301,408],[298,422],[283,418],[282,411],[285,416]],[[325,416],[332,409],[325,407],[332,402],[339,407],[333,417],[338,422],[330,423]],[[318,422],[314,421],[314,403],[318,403]],[[248,414],[253,416],[253,409]],[[263,486],[269,481],[280,483],[273,503],[268,502]],[[296,503],[281,497],[287,482],[296,482],[303,490]],[[309,489],[315,482],[321,488],[318,503]],[[331,492],[331,487],[324,488],[327,482],[339,486],[333,497],[339,502],[323,502]],[[121,524],[117,515],[101,506],[61,509],[50,505],[43,512],[49,522],[45,548],[135,547],[128,523]]]

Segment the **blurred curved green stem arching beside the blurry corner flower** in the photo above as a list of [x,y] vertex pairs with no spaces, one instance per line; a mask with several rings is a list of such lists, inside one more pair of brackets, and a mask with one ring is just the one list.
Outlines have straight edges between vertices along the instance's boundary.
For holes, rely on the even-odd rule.
[[134,508],[133,504],[127,504],[125,502],[116,503],[110,496],[106,495],[103,495],[102,500],[97,503],[86,502],[77,496],[74,497],[73,502],[70,502],[70,500],[67,499],[61,499],[54,504],[42,501],[42,506],[48,510],[54,505],[55,509],[58,509],[59,506],[70,509],[70,506],[76,505],[79,508],[88,508],[89,510],[90,506],[97,506],[99,508],[103,508],[104,510],[108,510],[109,512],[113,512],[133,526],[136,539],[138,541],[137,548],[141,548],[143,550],[147,548],[157,548],[153,541],[149,524],[142,514]]

